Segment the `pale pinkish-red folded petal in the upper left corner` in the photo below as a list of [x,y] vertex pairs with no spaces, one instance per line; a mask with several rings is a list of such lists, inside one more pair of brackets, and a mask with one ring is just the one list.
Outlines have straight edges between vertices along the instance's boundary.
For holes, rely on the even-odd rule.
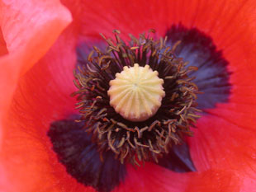
[[0,8],[0,25],[9,52],[0,60],[0,91],[5,93],[0,96],[0,109],[4,110],[18,76],[45,54],[71,18],[58,1],[2,1]]

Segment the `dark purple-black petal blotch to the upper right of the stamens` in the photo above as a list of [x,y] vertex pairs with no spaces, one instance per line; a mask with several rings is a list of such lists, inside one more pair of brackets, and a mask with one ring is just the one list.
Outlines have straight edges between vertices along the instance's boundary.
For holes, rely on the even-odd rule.
[[171,26],[168,30],[168,45],[173,46],[181,41],[175,49],[178,57],[188,61],[187,66],[196,66],[198,70],[192,72],[192,77],[197,77],[193,82],[197,84],[203,94],[197,95],[198,107],[211,109],[217,103],[227,102],[230,96],[230,72],[228,62],[210,36],[197,28],[187,29],[183,25]]

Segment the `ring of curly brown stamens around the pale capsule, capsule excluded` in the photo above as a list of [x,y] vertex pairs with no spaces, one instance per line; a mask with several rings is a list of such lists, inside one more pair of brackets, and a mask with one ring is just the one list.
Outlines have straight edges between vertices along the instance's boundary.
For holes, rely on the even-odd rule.
[[[157,162],[173,144],[182,143],[184,135],[192,136],[190,126],[200,117],[197,115],[200,110],[196,108],[197,85],[192,82],[194,77],[187,74],[197,68],[186,67],[187,63],[174,55],[176,45],[173,49],[166,47],[166,39],[153,40],[144,34],[136,39],[130,35],[130,45],[127,45],[118,30],[114,33],[116,41],[103,36],[107,49],[94,47],[94,54],[89,54],[74,71],[78,91],[73,96],[77,96],[81,115],[78,121],[83,121],[84,129],[92,133],[92,142],[97,143],[99,152],[111,150],[121,162],[138,164],[137,160],[151,159]],[[110,96],[107,94],[110,84],[115,84],[111,81],[116,74],[134,63],[140,63],[142,68],[149,65],[153,72],[159,73],[159,79],[164,80],[163,85],[160,83],[165,91],[162,105],[155,114],[152,112],[154,116],[140,122],[123,118],[118,110],[116,113],[110,105],[111,91]],[[163,96],[163,90],[160,92]]]

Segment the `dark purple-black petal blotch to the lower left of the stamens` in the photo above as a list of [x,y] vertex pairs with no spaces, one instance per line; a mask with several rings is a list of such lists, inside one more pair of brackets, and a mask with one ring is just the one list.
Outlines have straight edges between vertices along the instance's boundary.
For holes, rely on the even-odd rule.
[[111,151],[97,152],[97,145],[83,130],[83,124],[73,120],[56,121],[48,132],[59,162],[67,172],[84,185],[90,185],[100,192],[113,190],[126,176],[126,166],[114,158]]

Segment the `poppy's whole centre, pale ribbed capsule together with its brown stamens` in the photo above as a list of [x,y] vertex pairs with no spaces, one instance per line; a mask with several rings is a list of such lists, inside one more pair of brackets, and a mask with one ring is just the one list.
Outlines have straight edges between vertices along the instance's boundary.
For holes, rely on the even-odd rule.
[[197,68],[177,58],[167,39],[130,35],[128,45],[114,33],[116,41],[102,35],[107,49],[93,47],[74,71],[78,121],[101,154],[111,150],[122,163],[158,162],[192,136],[190,126],[200,117],[197,85],[188,76]]

